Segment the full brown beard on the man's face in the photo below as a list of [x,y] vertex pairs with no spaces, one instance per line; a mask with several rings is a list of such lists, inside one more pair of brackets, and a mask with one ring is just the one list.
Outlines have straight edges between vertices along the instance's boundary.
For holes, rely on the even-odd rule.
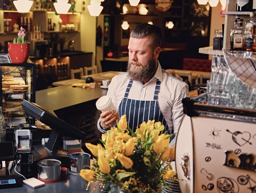
[[[137,66],[133,66],[133,64]],[[127,72],[128,76],[133,81],[147,81],[152,78],[155,73],[156,60],[152,57],[146,64],[139,62],[128,61]]]

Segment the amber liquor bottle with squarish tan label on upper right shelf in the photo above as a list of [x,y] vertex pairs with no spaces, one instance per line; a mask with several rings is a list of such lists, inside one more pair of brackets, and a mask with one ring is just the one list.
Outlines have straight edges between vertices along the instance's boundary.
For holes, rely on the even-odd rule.
[[234,28],[232,34],[230,34],[230,50],[232,51],[243,50],[243,21],[243,19],[237,20],[237,28]]

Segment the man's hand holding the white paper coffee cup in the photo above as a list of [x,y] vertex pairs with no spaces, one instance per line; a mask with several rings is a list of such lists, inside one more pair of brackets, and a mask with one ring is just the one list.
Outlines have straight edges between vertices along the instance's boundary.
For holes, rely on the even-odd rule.
[[116,120],[118,120],[118,118],[119,114],[116,112],[116,110],[112,110],[111,112],[109,110],[102,112],[100,115],[100,126],[104,130],[108,130],[110,127],[116,124]]

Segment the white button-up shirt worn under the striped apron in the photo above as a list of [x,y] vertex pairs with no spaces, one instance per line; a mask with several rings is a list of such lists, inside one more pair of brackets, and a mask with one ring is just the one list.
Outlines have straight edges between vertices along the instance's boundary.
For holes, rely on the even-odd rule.
[[[175,78],[165,70],[163,70],[158,62],[157,71],[153,78],[143,85],[142,82],[133,81],[128,98],[134,100],[153,101],[154,91],[157,79],[161,81],[160,90],[158,94],[158,104],[166,123],[169,126],[169,130],[172,133],[174,131],[175,138],[180,127],[181,118],[183,115],[182,99],[189,97],[188,85]],[[112,99],[116,110],[119,108],[119,104],[124,98],[125,90],[129,83],[127,72],[120,75],[116,75],[112,78],[110,85],[108,86],[107,95]],[[100,118],[98,121],[98,129],[102,133],[106,133],[100,127]]]

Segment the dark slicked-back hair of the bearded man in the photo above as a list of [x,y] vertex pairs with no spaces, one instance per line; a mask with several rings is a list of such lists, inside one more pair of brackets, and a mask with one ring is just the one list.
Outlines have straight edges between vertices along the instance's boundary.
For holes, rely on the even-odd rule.
[[133,38],[143,38],[146,36],[152,37],[151,46],[153,49],[161,46],[163,34],[158,26],[142,23],[136,26],[131,32],[131,37]]

